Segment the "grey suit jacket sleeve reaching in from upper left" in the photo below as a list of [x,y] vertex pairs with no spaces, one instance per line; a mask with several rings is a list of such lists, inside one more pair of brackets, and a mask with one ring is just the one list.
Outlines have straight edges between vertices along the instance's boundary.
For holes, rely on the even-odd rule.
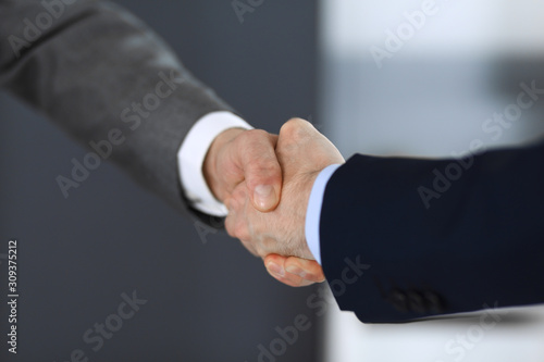
[[0,84],[181,211],[177,150],[198,118],[231,110],[107,1],[0,0]]

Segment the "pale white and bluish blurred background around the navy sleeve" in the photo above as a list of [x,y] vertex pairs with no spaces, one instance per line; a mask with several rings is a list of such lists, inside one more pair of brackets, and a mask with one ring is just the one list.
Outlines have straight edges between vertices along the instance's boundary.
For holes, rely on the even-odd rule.
[[[319,24],[318,114],[345,157],[458,157],[544,135],[544,99],[508,118],[520,84],[544,88],[541,2],[323,0]],[[487,329],[483,313],[363,325],[331,308],[324,360],[543,361],[544,308],[507,312]]]

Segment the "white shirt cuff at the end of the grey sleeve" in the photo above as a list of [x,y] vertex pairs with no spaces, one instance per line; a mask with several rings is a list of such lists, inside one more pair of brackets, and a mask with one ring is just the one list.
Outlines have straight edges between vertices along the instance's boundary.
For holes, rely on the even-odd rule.
[[228,212],[211,192],[202,173],[202,165],[215,137],[230,128],[252,127],[231,112],[208,113],[190,128],[177,152],[180,177],[186,197],[194,208],[212,216],[226,216]]

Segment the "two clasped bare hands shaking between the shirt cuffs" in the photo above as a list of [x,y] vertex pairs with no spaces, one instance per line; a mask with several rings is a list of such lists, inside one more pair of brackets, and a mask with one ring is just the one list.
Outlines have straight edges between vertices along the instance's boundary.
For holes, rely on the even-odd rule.
[[203,174],[228,210],[225,226],[268,272],[289,286],[324,280],[308,247],[308,201],[319,173],[344,158],[309,122],[293,118],[280,135],[232,128],[213,141]]

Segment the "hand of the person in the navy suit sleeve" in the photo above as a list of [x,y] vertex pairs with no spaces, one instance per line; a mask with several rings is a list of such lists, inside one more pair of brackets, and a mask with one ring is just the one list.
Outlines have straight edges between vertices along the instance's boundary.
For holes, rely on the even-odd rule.
[[[256,210],[251,202],[251,191],[247,183],[242,182],[232,192],[232,197],[225,199],[228,208],[226,229],[231,236],[240,239],[248,250],[261,258],[279,254],[313,260],[305,237],[306,209],[311,188],[324,167],[344,163],[344,159],[310,123],[299,118],[290,120],[282,127],[276,155],[284,179],[282,199],[277,208],[268,213]],[[277,258],[269,258],[267,266],[276,264],[285,271],[286,265],[295,264],[295,260]],[[275,260],[276,263],[271,263],[270,260]],[[317,264],[298,260],[297,266],[300,265],[314,267]],[[271,269],[269,271],[274,277],[284,283],[288,282],[286,284],[289,285],[300,285],[300,280],[294,278],[297,274],[316,276],[316,279],[319,279],[317,282],[322,280],[322,272],[316,273],[316,269],[301,273],[289,273],[287,270],[284,275],[281,272],[274,273]],[[311,278],[309,280],[312,282]]]

